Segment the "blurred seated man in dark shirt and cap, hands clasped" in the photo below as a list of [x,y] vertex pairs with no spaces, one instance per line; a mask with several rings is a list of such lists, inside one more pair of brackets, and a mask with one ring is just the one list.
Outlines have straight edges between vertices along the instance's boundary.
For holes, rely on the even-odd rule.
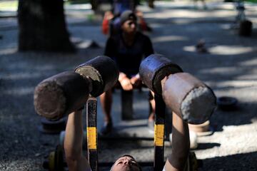
[[[106,42],[104,55],[112,58],[119,68],[119,82],[124,90],[132,90],[141,86],[139,66],[143,58],[153,53],[150,38],[136,30],[136,15],[132,11],[124,11],[121,14],[121,33],[111,36]],[[100,96],[101,106],[104,112],[104,127],[101,133],[111,133],[113,124],[111,119],[112,90],[107,90]],[[152,112],[148,123],[153,125],[155,103],[150,98]],[[152,126],[153,128],[153,126]]]

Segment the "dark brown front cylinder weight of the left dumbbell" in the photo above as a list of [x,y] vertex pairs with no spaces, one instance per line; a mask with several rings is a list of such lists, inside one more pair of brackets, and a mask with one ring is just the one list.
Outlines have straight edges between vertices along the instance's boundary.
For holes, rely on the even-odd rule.
[[47,78],[34,90],[36,113],[49,120],[59,120],[86,103],[91,80],[79,73],[66,71]]

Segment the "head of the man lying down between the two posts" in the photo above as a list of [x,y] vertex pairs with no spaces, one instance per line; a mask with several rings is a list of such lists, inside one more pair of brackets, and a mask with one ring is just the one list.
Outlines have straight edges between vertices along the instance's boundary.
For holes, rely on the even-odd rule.
[[131,155],[123,155],[114,162],[110,171],[141,171],[141,167]]

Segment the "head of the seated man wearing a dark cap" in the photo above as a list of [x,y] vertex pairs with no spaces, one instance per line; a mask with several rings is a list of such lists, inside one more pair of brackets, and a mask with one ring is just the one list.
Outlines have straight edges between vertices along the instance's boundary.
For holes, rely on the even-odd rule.
[[132,11],[127,10],[121,14],[121,29],[125,33],[135,33],[136,32],[136,14]]

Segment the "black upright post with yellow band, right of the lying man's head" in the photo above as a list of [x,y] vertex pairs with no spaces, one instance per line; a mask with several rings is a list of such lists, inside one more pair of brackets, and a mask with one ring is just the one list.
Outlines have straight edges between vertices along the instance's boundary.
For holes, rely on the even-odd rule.
[[156,115],[154,125],[154,162],[153,170],[163,170],[163,154],[164,154],[164,123],[166,105],[161,95],[154,95],[156,102]]

